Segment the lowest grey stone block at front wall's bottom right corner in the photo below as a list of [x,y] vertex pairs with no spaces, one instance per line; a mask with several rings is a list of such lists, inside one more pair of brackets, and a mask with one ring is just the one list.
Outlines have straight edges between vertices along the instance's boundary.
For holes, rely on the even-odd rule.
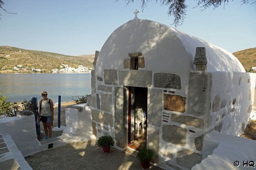
[[192,150],[184,149],[177,153],[176,163],[188,169],[199,164],[202,161],[202,155]]

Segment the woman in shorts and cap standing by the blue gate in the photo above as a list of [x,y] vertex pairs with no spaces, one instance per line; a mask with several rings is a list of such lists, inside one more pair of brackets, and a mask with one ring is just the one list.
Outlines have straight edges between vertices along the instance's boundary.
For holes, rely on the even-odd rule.
[[52,121],[53,121],[53,100],[47,98],[48,93],[43,91],[43,99],[39,102],[39,121],[43,122],[43,129],[45,133],[45,138],[43,140],[52,137]]

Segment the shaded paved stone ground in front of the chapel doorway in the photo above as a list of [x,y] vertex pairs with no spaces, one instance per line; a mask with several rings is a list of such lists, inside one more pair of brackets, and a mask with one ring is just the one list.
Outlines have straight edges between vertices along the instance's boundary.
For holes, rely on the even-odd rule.
[[[33,170],[143,170],[134,153],[112,148],[104,153],[96,140],[48,149],[25,159]],[[162,170],[153,165],[151,170]]]

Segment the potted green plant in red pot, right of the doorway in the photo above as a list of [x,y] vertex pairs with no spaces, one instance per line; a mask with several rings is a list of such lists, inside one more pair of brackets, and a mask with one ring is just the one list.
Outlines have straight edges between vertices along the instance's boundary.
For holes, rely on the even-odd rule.
[[150,166],[150,160],[153,158],[153,151],[150,149],[140,149],[136,157],[139,159],[142,168],[148,169]]

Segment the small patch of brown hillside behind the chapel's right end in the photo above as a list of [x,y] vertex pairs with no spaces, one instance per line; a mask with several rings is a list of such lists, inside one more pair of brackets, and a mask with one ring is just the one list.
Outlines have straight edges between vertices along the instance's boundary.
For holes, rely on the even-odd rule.
[[233,55],[242,63],[246,72],[256,67],[256,47],[234,52]]

